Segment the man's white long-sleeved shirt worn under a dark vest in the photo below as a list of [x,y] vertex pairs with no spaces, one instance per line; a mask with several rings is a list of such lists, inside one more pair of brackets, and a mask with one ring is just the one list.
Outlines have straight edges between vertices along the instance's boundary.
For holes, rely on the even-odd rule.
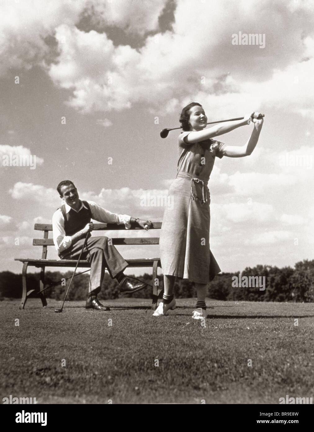
[[[91,209],[91,218],[96,220],[97,222],[116,223],[118,225],[124,224],[126,229],[131,228],[131,223],[130,223],[131,216],[111,213],[110,211],[94,203],[94,201],[87,201],[87,202]],[[82,203],[78,211],[80,211],[82,207],[85,207],[85,209],[87,208]],[[70,207],[68,204],[65,204],[66,213],[69,213],[71,208],[72,207]],[[66,235],[66,232],[64,230],[64,218],[63,218],[62,211],[60,209],[58,209],[55,213],[53,213],[52,229],[53,229],[53,243],[57,251],[62,252],[65,249],[69,248],[72,244],[72,239],[70,235]]]

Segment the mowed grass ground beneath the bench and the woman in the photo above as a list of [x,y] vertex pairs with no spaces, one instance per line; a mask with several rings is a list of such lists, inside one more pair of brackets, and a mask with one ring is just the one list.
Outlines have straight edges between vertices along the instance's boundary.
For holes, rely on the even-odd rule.
[[207,300],[203,327],[191,318],[194,299],[160,318],[150,300],[103,303],[110,312],[66,302],[56,314],[62,302],[51,299],[47,308],[30,299],[24,311],[18,300],[0,302],[1,400],[278,404],[286,394],[314,396],[313,304]]

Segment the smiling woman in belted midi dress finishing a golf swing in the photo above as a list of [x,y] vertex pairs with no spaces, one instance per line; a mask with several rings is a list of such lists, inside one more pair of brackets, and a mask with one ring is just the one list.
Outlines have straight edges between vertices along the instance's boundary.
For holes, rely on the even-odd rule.
[[[261,133],[263,118],[258,112],[246,115],[244,120],[217,124],[205,129],[207,117],[202,106],[192,102],[182,109],[179,135],[178,174],[170,186],[174,197],[173,209],[166,208],[160,234],[160,260],[163,269],[163,301],[154,316],[165,315],[176,307],[173,297],[175,277],[195,283],[197,292],[195,319],[206,317],[205,296],[207,284],[221,270],[210,252],[210,194],[207,187],[215,157],[249,156]],[[213,139],[240,126],[254,123],[251,137],[244,146],[228,146]]]

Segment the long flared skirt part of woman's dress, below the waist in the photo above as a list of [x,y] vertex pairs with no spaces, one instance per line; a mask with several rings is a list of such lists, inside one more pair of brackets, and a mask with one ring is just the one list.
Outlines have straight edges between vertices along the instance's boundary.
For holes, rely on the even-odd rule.
[[163,216],[160,233],[160,260],[164,275],[178,276],[195,283],[208,283],[221,270],[210,252],[210,194],[202,204],[202,184],[193,183],[199,200],[191,196],[191,181],[176,178],[168,197],[173,203]]

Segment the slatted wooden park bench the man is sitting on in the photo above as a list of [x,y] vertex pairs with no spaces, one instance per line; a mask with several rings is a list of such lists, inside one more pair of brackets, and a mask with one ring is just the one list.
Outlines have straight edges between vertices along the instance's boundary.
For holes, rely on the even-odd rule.
[[[153,226],[151,229],[160,229],[161,228],[161,222],[153,222]],[[33,259],[33,258],[15,258],[16,261],[21,261],[23,263],[23,270],[22,270],[22,285],[23,285],[23,292],[22,292],[22,300],[20,303],[19,308],[24,309],[25,303],[28,299],[28,296],[31,293],[35,292],[35,289],[27,289],[27,282],[26,282],[26,273],[28,266],[33,266],[41,269],[40,273],[40,281],[39,281],[39,297],[41,299],[41,302],[43,304],[43,307],[47,306],[47,300],[45,297],[44,292],[42,292],[45,288],[48,288],[48,285],[45,284],[45,268],[46,267],[75,267],[77,260],[48,260],[47,259],[47,247],[53,246],[53,239],[48,238],[49,231],[52,231],[52,225],[47,224],[41,224],[41,223],[35,223],[35,230],[38,231],[44,231],[44,238],[34,238],[33,239],[33,245],[35,246],[42,246],[43,250],[41,253],[41,259]],[[117,231],[117,230],[125,230],[124,225],[116,225],[116,224],[106,224],[106,223],[94,223],[94,231]],[[134,229],[143,229],[138,226],[131,226],[130,230]],[[159,245],[159,237],[134,237],[134,238],[128,238],[128,237],[111,237],[108,235],[109,233],[106,233],[106,236],[108,238],[112,238],[112,244],[113,245]],[[155,284],[155,279],[157,278],[157,268],[161,267],[160,258],[140,258],[140,259],[132,259],[132,260],[126,260],[129,264],[129,267],[153,267],[153,277],[152,277],[152,286],[153,286],[153,302],[152,302],[152,309],[156,309],[157,307],[157,300],[160,297],[161,292],[163,289],[161,289],[158,285]],[[90,265],[87,260],[80,260],[79,267],[87,267],[90,268]]]

